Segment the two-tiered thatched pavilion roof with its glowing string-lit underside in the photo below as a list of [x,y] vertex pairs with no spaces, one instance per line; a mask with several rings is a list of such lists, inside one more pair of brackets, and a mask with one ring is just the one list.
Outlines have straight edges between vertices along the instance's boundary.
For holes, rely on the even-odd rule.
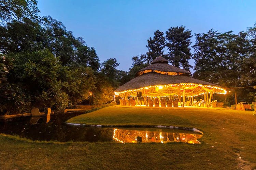
[[168,61],[160,56],[150,66],[139,70],[134,79],[117,88],[115,95],[122,98],[136,97],[140,91],[145,100],[147,97],[177,97],[180,101],[183,98],[183,105],[185,97],[203,95],[210,105],[213,94],[226,94],[226,90],[221,86],[191,78],[189,73],[169,65]]

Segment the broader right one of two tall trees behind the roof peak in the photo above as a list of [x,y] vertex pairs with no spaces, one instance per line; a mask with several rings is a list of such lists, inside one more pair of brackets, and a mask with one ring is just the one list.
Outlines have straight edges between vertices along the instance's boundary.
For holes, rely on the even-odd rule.
[[188,60],[191,58],[190,38],[191,31],[185,27],[171,27],[166,31],[167,48],[169,50],[168,61],[175,67],[181,67],[189,71],[191,65]]

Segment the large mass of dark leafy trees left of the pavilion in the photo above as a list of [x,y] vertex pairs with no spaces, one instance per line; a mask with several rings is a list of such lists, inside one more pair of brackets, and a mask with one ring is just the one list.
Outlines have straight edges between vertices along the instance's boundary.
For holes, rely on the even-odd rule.
[[111,102],[116,59],[100,63],[83,38],[38,12],[35,0],[0,0],[0,112]]

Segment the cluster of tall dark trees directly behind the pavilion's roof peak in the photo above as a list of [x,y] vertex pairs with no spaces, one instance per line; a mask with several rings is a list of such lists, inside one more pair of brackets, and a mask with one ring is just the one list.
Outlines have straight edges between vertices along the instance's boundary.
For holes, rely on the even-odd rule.
[[[147,40],[148,52],[132,58],[133,66],[150,64],[157,57],[165,57],[173,66],[185,70],[191,68],[188,60],[191,59],[190,44],[191,31],[185,27],[171,27],[166,33],[156,30],[154,37]],[[165,53],[167,51],[167,53]]]

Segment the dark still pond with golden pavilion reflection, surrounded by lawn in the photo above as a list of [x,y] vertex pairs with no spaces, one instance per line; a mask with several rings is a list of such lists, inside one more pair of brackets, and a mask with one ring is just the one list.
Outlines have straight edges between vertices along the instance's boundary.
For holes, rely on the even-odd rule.
[[186,142],[200,143],[202,134],[168,128],[96,128],[71,126],[65,122],[82,113],[51,115],[51,117],[14,117],[0,119],[0,133],[17,135],[39,141],[87,141],[120,143],[136,142]]

